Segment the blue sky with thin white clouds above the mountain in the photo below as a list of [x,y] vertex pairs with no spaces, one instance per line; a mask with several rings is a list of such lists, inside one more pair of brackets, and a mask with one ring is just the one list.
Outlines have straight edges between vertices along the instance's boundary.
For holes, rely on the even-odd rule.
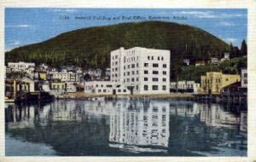
[[6,8],[5,51],[79,28],[141,20],[196,26],[239,48],[247,41],[247,9]]

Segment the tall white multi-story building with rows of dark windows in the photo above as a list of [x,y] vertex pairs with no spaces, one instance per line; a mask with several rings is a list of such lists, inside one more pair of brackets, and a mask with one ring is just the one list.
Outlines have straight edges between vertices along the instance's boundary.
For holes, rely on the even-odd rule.
[[111,81],[124,84],[132,94],[169,93],[170,50],[131,49],[111,52]]

